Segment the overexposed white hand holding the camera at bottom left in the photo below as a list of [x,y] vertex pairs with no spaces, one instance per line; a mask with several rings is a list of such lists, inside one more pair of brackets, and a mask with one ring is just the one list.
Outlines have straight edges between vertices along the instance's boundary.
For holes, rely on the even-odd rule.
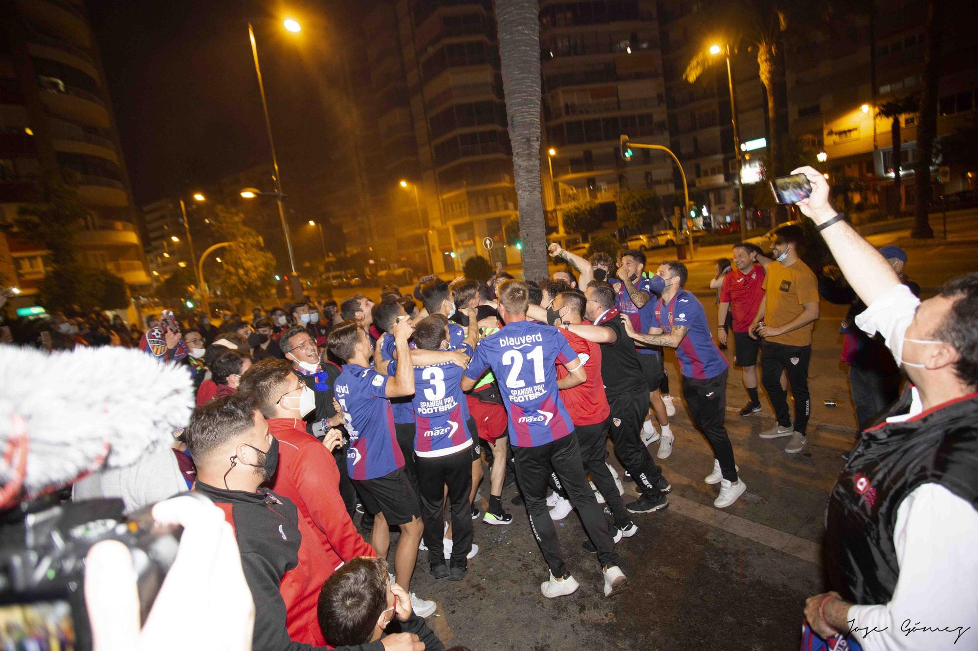
[[[153,507],[157,522],[184,527],[173,567],[140,629],[136,573],[128,547],[93,546],[85,566],[85,603],[97,651],[251,648],[254,602],[241,553],[223,512],[183,495]],[[176,626],[175,623],[179,623]]]

